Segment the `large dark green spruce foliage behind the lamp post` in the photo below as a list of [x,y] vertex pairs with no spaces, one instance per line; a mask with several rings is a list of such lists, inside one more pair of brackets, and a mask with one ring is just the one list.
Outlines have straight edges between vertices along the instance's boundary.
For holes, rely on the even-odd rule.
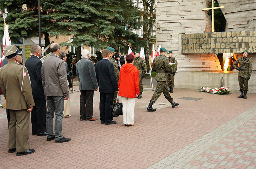
[[[0,8],[9,11],[6,21],[10,37],[38,35],[37,5],[37,1],[32,0],[0,0]],[[64,42],[62,45],[78,47],[78,60],[81,45],[112,46],[117,50],[128,48],[128,44],[133,47],[143,44],[138,35],[125,29],[141,25],[138,21],[140,12],[130,0],[41,0],[41,10],[46,45],[49,44],[49,35],[57,38],[60,35],[73,36],[71,44]]]

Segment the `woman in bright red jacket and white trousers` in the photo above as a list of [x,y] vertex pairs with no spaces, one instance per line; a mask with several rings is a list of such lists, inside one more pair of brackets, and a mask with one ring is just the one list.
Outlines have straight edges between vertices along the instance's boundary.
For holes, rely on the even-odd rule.
[[135,98],[139,95],[139,70],[133,65],[133,55],[126,55],[126,61],[120,68],[118,95],[122,96],[124,125],[134,126]]

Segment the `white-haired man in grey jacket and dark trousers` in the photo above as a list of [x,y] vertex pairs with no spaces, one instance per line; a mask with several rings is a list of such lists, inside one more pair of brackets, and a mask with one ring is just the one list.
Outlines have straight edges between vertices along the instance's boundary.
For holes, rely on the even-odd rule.
[[90,51],[82,50],[81,60],[76,63],[76,75],[79,82],[80,95],[80,120],[94,121],[93,115],[94,91],[98,90],[94,63],[89,60]]

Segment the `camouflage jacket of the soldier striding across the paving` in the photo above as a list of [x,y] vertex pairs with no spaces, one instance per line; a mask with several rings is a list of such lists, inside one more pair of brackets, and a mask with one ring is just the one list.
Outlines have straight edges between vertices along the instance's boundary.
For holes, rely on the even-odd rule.
[[169,64],[169,58],[162,54],[156,56],[153,61],[152,71],[156,72],[156,81],[167,81],[166,73],[173,73],[173,70]]

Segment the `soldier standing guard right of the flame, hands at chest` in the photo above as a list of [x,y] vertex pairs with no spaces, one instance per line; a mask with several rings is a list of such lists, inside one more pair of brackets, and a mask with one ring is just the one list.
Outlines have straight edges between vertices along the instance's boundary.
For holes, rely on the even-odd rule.
[[[243,57],[238,58],[234,63],[233,67],[239,71],[238,73],[238,82],[240,87],[241,95],[238,98],[247,98],[246,94],[248,91],[248,80],[252,74],[252,63],[247,58],[247,50],[242,52]],[[239,67],[238,67],[239,63]],[[242,66],[243,65],[243,66]],[[242,66],[242,67],[241,67]]]

